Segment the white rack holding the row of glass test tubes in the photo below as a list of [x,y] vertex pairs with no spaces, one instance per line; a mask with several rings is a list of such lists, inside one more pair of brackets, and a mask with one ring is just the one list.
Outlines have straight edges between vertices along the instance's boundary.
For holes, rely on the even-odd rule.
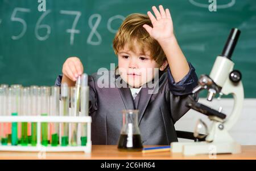
[[[85,152],[92,151],[91,123],[90,116],[0,116],[0,122],[36,122],[37,123],[37,144],[36,146],[3,146],[0,145],[0,151],[20,151],[20,152]],[[87,123],[87,143],[86,146],[43,146],[41,144],[41,123]]]

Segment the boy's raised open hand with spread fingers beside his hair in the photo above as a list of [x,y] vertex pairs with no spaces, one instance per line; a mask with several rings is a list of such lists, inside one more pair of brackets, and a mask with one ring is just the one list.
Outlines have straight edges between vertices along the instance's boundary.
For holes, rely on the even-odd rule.
[[159,6],[159,10],[153,6],[152,10],[154,15],[150,11],[147,12],[148,17],[151,20],[153,27],[150,27],[147,24],[144,24],[143,27],[158,42],[168,41],[174,37],[174,28],[172,25],[172,18],[168,8],[164,10],[163,6]]

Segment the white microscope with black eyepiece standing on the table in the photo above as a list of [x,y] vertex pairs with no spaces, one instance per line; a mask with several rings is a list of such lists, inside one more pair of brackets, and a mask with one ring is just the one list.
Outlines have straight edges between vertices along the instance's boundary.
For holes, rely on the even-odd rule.
[[[234,62],[231,57],[237,44],[240,30],[233,28],[226,41],[222,54],[216,58],[210,75],[201,75],[199,84],[193,89],[192,93],[199,93],[207,90],[207,100],[212,101],[215,95],[229,95],[234,99],[233,109],[229,117],[221,110],[214,110],[196,101],[187,102],[187,106],[197,112],[203,113],[211,121],[207,135],[201,142],[192,143],[171,143],[172,153],[183,153],[185,156],[211,153],[240,153],[241,145],[237,143],[229,134],[229,130],[237,122],[242,112],[243,105],[243,86],[241,82],[241,72],[233,70]],[[205,123],[199,127],[207,127]],[[201,135],[194,132],[194,136]]]

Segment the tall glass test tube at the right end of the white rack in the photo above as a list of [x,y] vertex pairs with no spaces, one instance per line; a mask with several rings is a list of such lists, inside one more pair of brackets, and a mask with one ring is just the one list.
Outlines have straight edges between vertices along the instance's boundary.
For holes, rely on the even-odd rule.
[[[81,75],[81,113],[80,116],[88,116],[89,113],[89,87],[88,75]],[[87,143],[87,124],[81,123],[81,146]]]

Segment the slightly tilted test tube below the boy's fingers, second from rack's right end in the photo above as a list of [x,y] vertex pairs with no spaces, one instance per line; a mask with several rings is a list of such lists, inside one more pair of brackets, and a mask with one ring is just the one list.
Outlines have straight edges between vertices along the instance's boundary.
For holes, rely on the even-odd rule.
[[[77,87],[71,87],[71,113],[70,116],[78,116],[79,114],[79,96],[77,96]],[[78,109],[78,111],[77,111]],[[70,143],[71,146],[77,146],[77,123],[71,123]]]

